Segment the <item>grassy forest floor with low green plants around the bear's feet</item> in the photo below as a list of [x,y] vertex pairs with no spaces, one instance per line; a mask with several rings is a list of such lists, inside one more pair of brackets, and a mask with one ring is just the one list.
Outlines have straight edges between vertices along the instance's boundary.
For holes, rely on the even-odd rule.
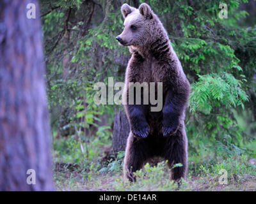
[[[120,157],[124,156],[123,152]],[[121,161],[121,159],[120,159]],[[111,164],[111,166],[114,164]],[[248,163],[248,157],[228,157],[216,161],[205,159],[203,163],[189,162],[188,177],[182,180],[181,185],[170,180],[170,170],[166,162],[157,166],[145,165],[136,171],[136,182],[124,182],[122,169],[115,171],[99,171],[99,166],[91,163],[86,171],[76,174],[79,169],[70,171],[56,171],[54,180],[60,191],[250,191],[255,189],[256,166]],[[110,166],[110,165],[109,165]],[[176,166],[180,166],[177,164]],[[194,171],[191,166],[198,166]],[[102,168],[103,169],[103,168]],[[227,171],[227,185],[220,185],[221,171]],[[241,185],[241,186],[240,186]]]

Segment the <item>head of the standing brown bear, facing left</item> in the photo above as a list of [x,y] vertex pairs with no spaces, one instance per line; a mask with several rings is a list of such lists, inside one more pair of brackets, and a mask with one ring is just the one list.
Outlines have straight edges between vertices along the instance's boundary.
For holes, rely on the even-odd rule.
[[124,31],[116,36],[121,45],[143,47],[156,31],[157,17],[148,4],[143,3],[138,9],[123,4]]

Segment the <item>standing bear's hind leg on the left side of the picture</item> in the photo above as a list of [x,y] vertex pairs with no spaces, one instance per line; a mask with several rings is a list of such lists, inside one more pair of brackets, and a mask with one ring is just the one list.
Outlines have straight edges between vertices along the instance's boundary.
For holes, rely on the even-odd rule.
[[136,181],[133,172],[140,170],[147,161],[148,150],[144,140],[134,138],[132,133],[127,139],[124,157],[124,179],[129,179],[130,182]]

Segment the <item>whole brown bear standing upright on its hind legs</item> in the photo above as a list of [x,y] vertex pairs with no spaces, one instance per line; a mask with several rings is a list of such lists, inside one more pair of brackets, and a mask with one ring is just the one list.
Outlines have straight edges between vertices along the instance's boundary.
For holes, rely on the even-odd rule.
[[[121,45],[129,46],[132,53],[125,73],[123,93],[123,100],[127,101],[124,104],[125,113],[131,127],[125,149],[124,175],[134,181],[132,172],[140,170],[148,159],[161,157],[168,160],[170,168],[173,164],[182,164],[172,168],[171,173],[173,180],[179,180],[185,177],[188,160],[184,124],[190,91],[188,79],[163,24],[150,6],[143,3],[136,9],[123,4],[121,11],[125,18],[124,31],[116,40]],[[129,82],[162,82],[163,108],[152,112],[150,108],[153,105],[147,103],[143,94],[136,95],[134,89],[132,98],[140,98],[141,103],[129,104],[129,94],[132,93]]]

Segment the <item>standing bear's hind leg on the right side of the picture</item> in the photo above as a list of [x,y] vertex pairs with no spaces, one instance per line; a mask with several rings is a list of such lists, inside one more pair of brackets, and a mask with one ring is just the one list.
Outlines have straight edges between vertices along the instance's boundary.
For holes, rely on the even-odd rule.
[[[164,158],[168,160],[172,180],[179,181],[185,177],[188,166],[188,139],[185,129],[179,128],[174,135],[168,136]],[[182,166],[173,167],[179,163]]]

